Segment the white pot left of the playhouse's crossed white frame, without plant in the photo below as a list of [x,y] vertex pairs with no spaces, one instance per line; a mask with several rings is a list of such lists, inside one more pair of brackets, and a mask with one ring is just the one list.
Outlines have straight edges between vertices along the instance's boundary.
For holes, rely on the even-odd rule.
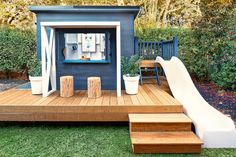
[[32,94],[42,94],[42,77],[29,77]]

